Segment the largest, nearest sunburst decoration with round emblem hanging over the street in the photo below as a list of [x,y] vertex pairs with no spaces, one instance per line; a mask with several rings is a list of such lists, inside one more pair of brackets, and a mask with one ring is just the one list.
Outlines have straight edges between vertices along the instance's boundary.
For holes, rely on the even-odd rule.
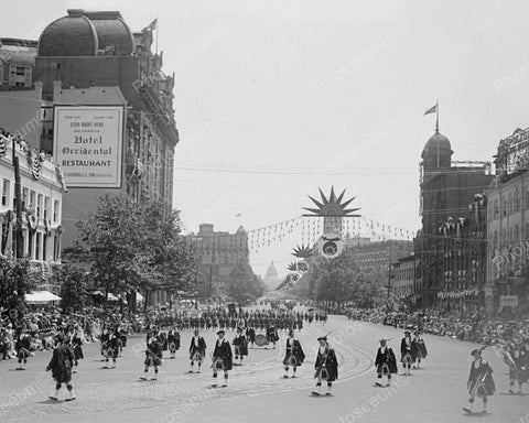
[[334,186],[331,187],[331,195],[328,198],[319,188],[322,200],[319,202],[309,196],[317,208],[303,207],[305,210],[311,212],[311,215],[303,215],[304,217],[323,217],[323,235],[316,242],[317,252],[327,258],[333,259],[342,253],[342,228],[343,219],[347,217],[360,217],[360,215],[354,214],[359,208],[347,208],[347,206],[356,198],[344,200],[345,189],[336,197],[334,193]]

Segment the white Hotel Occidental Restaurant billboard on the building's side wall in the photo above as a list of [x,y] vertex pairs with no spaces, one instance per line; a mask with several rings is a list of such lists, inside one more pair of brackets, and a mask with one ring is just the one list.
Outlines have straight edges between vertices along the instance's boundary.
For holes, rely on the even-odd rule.
[[121,106],[55,106],[54,158],[68,187],[120,187],[122,140]]

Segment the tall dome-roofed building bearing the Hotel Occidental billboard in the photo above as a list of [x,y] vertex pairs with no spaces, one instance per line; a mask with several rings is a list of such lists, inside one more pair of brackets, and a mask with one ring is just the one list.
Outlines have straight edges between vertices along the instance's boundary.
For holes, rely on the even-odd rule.
[[132,32],[117,11],[68,10],[42,32],[33,79],[47,105],[42,149],[68,181],[64,247],[104,194],[172,208],[174,76],[152,42],[150,28]]

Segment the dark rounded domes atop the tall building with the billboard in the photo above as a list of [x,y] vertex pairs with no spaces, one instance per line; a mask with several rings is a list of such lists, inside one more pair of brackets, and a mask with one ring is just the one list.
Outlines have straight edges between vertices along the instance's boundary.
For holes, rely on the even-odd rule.
[[120,12],[71,9],[44,29],[37,56],[121,56],[134,51],[132,31]]

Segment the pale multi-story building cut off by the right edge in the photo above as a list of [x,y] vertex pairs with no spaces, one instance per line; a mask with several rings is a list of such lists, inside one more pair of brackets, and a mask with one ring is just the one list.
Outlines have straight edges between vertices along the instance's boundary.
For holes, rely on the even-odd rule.
[[501,140],[488,194],[486,306],[527,313],[529,304],[529,128]]

